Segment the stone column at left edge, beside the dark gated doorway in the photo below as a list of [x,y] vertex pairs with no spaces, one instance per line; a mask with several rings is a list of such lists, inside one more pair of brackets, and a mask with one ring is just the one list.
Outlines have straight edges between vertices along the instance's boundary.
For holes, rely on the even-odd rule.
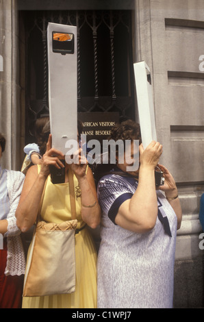
[[21,170],[21,108],[19,104],[18,12],[15,0],[0,1],[0,132],[5,135],[6,148],[1,166]]

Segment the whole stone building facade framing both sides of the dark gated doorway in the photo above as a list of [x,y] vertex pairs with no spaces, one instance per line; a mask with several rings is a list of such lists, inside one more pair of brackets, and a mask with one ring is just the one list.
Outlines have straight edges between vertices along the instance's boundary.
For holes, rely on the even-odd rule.
[[[204,192],[204,1],[0,1],[0,131],[7,138],[3,166],[21,169],[26,141],[23,10],[130,10],[133,62],[151,69],[161,163],[173,173],[183,209],[177,233],[175,308],[203,307],[203,250],[199,202]],[[202,58],[203,55],[203,58]],[[135,93],[136,96],[136,93]],[[136,99],[135,99],[136,102]],[[137,106],[134,104],[135,118]]]

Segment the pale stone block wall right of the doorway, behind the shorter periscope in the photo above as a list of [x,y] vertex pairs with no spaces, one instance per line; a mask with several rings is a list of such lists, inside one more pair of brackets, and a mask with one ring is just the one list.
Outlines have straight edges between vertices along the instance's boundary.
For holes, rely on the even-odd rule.
[[177,233],[175,307],[203,306],[199,202],[204,192],[204,3],[136,0],[135,60],[151,69],[160,163],[173,173],[183,209]]

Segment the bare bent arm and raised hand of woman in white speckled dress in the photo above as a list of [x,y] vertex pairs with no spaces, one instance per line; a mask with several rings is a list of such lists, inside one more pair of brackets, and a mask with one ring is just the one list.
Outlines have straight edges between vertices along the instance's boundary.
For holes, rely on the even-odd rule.
[[133,232],[152,230],[157,220],[157,195],[155,190],[155,166],[162,154],[162,145],[154,141],[144,150],[140,146],[140,171],[136,193],[123,202],[115,222]]

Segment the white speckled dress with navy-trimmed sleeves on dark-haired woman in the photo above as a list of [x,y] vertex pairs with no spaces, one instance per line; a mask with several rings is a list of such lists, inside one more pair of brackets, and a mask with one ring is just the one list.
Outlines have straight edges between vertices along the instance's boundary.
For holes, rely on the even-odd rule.
[[102,177],[98,185],[102,209],[98,308],[173,307],[177,216],[170,203],[158,190],[157,221],[153,230],[144,234],[125,230],[114,222],[118,208],[133,196],[137,186],[133,177],[114,173]]

